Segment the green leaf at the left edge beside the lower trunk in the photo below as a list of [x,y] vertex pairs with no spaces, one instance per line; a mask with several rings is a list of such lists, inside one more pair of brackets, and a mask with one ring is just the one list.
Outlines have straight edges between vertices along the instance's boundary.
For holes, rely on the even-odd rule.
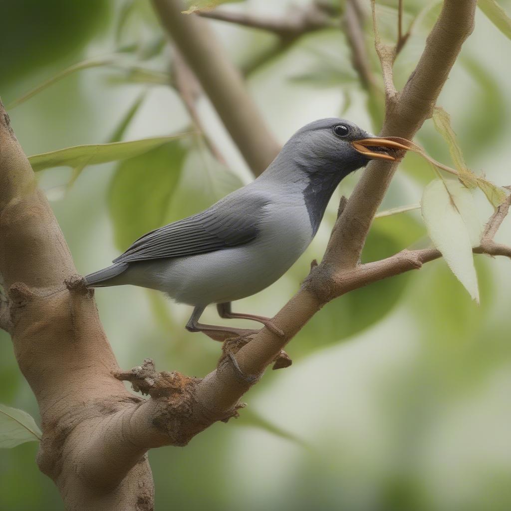
[[0,404],[0,448],[9,449],[25,442],[37,442],[41,435],[31,415]]

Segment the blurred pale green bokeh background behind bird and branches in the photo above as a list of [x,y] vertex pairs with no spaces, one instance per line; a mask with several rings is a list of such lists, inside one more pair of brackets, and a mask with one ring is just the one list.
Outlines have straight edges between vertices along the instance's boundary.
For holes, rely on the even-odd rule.
[[[247,0],[223,6],[269,16],[307,2]],[[339,2],[342,12],[343,2]],[[363,2],[367,14],[369,2]],[[379,5],[383,36],[394,34],[397,0]],[[500,4],[511,11],[511,2]],[[396,63],[405,83],[439,11],[406,0],[405,23],[421,13]],[[0,94],[6,105],[69,65],[83,71],[9,109],[27,154],[68,146],[190,131],[171,82],[172,53],[146,0],[0,0]],[[257,63],[275,44],[258,30],[211,21],[225,51],[250,69],[247,86],[284,143],[300,126],[342,115],[378,130],[378,106],[353,71],[344,34],[322,30]],[[372,34],[367,48],[380,80]],[[452,117],[469,166],[511,184],[511,41],[481,13],[439,99]],[[113,54],[113,56],[112,56]],[[107,64],[105,64],[105,62]],[[188,135],[122,164],[38,174],[78,270],[103,268],[144,231],[187,216],[251,179],[207,99],[205,131],[227,160],[219,165],[203,138]],[[131,113],[129,122],[127,115]],[[449,164],[448,148],[428,121],[416,140]],[[419,202],[434,175],[407,156],[382,209]],[[280,281],[236,304],[273,315],[321,258],[341,183],[311,247]],[[478,197],[481,221],[491,208]],[[364,261],[425,242],[420,214],[375,220]],[[506,220],[497,240],[511,240]],[[443,261],[357,290],[324,307],[289,345],[293,365],[269,370],[246,395],[237,420],[204,431],[185,448],[150,452],[156,509],[508,510],[511,508],[511,262],[476,258],[477,307]],[[203,376],[220,344],[190,334],[190,308],[140,288],[96,292],[105,330],[122,367],[145,357],[158,369]],[[219,322],[214,308],[204,319]],[[242,324],[242,322],[240,322]],[[0,402],[38,417],[9,337],[0,332]],[[38,446],[0,451],[0,509],[63,509],[52,481],[35,464]]]

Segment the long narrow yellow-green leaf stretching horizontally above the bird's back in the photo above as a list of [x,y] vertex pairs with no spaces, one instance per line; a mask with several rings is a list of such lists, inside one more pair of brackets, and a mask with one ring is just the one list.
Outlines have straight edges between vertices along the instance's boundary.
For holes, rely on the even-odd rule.
[[143,138],[142,140],[131,142],[67,147],[50,153],[35,154],[29,157],[29,161],[34,172],[52,167],[77,168],[87,165],[98,165],[108,161],[117,161],[144,154],[151,149],[167,144],[184,135],[187,135],[187,133]]

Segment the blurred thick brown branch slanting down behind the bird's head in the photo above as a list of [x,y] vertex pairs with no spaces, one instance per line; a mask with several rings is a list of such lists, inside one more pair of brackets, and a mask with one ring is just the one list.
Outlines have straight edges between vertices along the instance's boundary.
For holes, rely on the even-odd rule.
[[180,0],[153,0],[162,25],[210,98],[233,141],[257,176],[280,146],[248,95],[240,73],[225,56],[207,22],[181,14]]

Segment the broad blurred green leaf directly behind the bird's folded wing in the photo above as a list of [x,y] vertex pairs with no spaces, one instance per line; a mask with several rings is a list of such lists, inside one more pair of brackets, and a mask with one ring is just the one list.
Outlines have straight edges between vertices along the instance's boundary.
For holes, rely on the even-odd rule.
[[164,225],[181,176],[185,148],[173,140],[119,165],[108,197],[115,244],[126,249],[148,231]]

